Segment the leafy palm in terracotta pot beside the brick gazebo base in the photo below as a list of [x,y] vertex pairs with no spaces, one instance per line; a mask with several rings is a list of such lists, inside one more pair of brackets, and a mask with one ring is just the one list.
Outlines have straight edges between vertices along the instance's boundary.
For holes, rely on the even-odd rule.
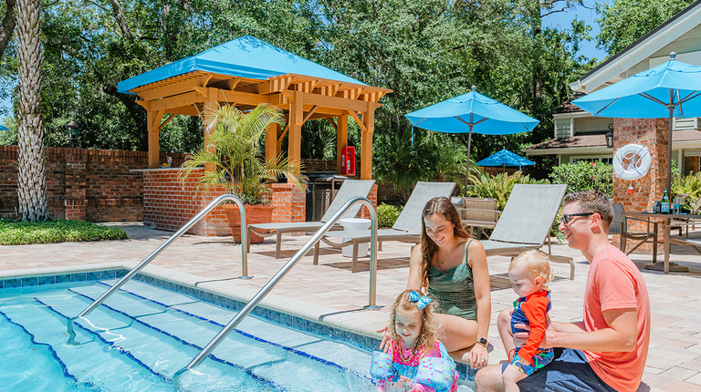
[[[300,164],[289,161],[282,155],[263,160],[260,140],[268,125],[284,125],[280,109],[260,104],[247,113],[225,105],[213,103],[204,108],[202,121],[205,132],[210,135],[206,146],[186,160],[179,173],[184,182],[193,170],[204,166],[204,174],[197,185],[209,190],[223,186],[246,205],[247,223],[267,223],[271,221],[274,207],[270,196],[272,191],[267,182],[277,181],[284,175],[289,181],[306,191],[307,185],[299,175]],[[275,142],[274,140],[272,142]],[[235,242],[241,242],[241,223],[235,204],[224,204]],[[262,242],[263,238],[252,236],[252,243]]]

